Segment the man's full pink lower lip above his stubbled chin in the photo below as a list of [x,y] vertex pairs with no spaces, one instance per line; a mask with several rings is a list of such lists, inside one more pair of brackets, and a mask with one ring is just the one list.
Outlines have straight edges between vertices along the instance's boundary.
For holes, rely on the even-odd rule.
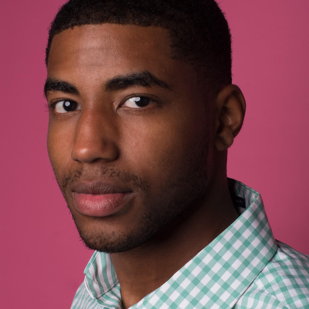
[[75,208],[92,217],[106,217],[121,210],[129,197],[128,193],[84,194],[73,192]]

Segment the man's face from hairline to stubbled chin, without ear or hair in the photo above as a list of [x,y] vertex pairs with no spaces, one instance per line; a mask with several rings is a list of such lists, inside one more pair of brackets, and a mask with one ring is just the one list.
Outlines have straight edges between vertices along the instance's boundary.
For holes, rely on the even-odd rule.
[[159,27],[101,24],[53,38],[48,151],[85,243],[129,250],[207,193],[210,105]]

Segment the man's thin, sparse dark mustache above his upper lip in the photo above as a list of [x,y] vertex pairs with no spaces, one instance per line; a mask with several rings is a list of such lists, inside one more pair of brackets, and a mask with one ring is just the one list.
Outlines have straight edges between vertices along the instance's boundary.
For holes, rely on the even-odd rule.
[[62,180],[62,189],[69,190],[70,186],[79,179],[92,180],[103,179],[105,181],[122,182],[123,184],[131,184],[136,188],[147,190],[149,185],[138,174],[128,171],[119,170],[113,166],[100,166],[95,169],[87,169],[85,167],[77,168],[74,171],[66,174]]

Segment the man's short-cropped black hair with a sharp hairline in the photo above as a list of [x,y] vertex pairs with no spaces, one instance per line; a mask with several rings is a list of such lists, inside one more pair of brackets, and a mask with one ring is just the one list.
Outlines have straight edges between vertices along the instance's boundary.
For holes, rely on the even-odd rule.
[[169,34],[172,58],[193,65],[201,78],[220,85],[232,82],[231,33],[214,0],[70,0],[49,27],[46,66],[56,34],[100,23],[162,27]]

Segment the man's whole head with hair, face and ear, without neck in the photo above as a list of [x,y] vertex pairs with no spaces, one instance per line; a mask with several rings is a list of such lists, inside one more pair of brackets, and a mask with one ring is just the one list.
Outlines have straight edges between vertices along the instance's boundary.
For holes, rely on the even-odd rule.
[[244,115],[214,1],[70,1],[46,51],[49,157],[90,248],[132,249],[203,204]]

